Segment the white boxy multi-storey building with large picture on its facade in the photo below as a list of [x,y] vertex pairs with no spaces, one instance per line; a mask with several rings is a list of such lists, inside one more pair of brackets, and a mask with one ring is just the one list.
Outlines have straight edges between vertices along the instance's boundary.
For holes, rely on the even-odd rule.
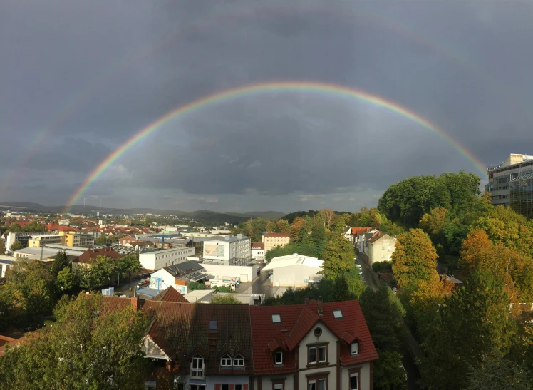
[[206,238],[204,259],[222,260],[227,265],[247,265],[252,259],[252,239],[245,235]]

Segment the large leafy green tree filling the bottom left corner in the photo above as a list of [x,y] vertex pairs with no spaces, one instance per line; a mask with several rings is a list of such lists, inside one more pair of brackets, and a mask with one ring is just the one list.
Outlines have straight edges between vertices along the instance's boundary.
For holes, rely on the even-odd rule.
[[100,301],[85,294],[62,299],[56,326],[7,347],[0,389],[144,389],[147,365],[139,345],[150,320],[132,307],[100,312]]

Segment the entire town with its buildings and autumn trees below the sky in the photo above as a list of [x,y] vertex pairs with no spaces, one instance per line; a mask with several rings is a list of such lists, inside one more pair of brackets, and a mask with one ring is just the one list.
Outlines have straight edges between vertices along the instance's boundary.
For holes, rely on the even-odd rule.
[[[470,173],[413,177],[377,208],[237,225],[2,210],[0,378],[18,388],[10,364],[63,356],[42,343],[73,332],[101,380],[127,388],[458,389],[480,359],[527,384],[514,356],[533,356],[532,167],[510,155],[483,194]],[[92,350],[106,343],[113,355]]]

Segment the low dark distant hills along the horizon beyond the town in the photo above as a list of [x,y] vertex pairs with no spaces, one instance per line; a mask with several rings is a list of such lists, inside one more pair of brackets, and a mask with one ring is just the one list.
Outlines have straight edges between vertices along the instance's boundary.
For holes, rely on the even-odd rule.
[[[31,202],[0,202],[0,208],[21,209],[24,212],[63,212],[65,206],[43,206],[38,203]],[[183,218],[193,218],[195,220],[203,220],[214,225],[222,224],[224,222],[239,224],[249,220],[250,218],[263,217],[267,219],[277,220],[284,216],[283,212],[278,211],[254,211],[254,212],[215,212],[211,210],[197,210],[193,212],[186,212],[180,210],[158,210],[152,208],[133,208],[133,209],[119,209],[96,207],[94,205],[74,205],[71,207],[73,214],[96,214],[100,211],[102,214],[158,214],[158,215],[175,215]]]

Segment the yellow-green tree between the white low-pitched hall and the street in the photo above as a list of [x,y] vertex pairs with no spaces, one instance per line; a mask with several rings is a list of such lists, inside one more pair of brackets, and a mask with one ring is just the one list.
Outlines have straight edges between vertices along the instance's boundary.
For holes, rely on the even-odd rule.
[[336,279],[351,270],[353,264],[353,247],[342,235],[334,235],[324,248],[324,264],[321,273],[326,279]]

